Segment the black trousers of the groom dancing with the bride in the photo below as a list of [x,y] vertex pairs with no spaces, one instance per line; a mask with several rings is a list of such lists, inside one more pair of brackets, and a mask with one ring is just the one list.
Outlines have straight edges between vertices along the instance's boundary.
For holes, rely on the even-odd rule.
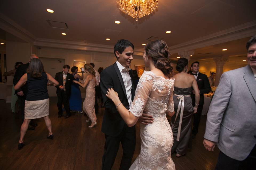
[[128,127],[126,124],[123,127],[121,134],[117,137],[111,137],[105,134],[105,146],[104,154],[102,158],[102,170],[111,170],[115,157],[119,149],[120,142],[123,148],[123,156],[120,164],[120,170],[129,169],[131,166],[131,160],[136,144],[135,126]]

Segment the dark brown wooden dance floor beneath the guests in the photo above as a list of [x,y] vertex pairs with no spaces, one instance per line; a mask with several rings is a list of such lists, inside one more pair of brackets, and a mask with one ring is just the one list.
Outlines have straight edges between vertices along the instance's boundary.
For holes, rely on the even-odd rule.
[[[104,108],[97,114],[97,128],[90,129],[86,117],[72,113],[68,119],[58,118],[57,97],[50,97],[50,119],[54,139],[47,139],[48,134],[43,118],[37,119],[35,130],[28,130],[25,135],[25,146],[18,150],[21,119],[11,113],[10,103],[0,100],[1,106],[1,138],[0,169],[101,169],[101,160],[105,137],[101,132]],[[65,116],[65,112],[63,113]],[[192,148],[185,156],[177,158],[171,155],[176,170],[213,170],[217,163],[219,150],[206,151],[202,145],[206,116],[203,116],[196,139],[192,140]],[[140,151],[139,123],[136,124],[136,150],[133,161]],[[122,158],[120,149],[113,165],[118,170]]]

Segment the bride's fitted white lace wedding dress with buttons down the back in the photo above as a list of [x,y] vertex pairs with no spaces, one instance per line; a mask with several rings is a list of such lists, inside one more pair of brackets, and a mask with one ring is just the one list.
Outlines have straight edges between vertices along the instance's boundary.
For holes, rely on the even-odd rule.
[[135,97],[129,111],[134,116],[142,112],[153,116],[154,121],[141,128],[141,152],[130,169],[174,170],[171,159],[173,133],[166,118],[166,111],[174,111],[174,79],[156,76],[151,71],[144,71],[139,79]]

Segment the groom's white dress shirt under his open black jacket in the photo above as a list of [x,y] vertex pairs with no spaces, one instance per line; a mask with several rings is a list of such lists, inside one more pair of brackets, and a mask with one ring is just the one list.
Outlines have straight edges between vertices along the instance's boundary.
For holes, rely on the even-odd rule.
[[118,61],[116,62],[117,63],[117,66],[118,66],[118,69],[122,75],[122,78],[123,78],[123,83],[125,84],[125,90],[126,90],[126,95],[127,95],[127,98],[128,98],[128,102],[129,102],[129,107],[131,107],[131,88],[132,88],[132,83],[131,83],[131,77],[130,77],[130,74],[129,74],[129,69],[122,66]]

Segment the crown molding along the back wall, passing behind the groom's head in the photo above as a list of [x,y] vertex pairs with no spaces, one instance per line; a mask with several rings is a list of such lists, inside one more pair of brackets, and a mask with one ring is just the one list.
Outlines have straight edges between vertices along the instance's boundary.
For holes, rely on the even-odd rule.
[[[43,47],[52,47],[52,48],[113,53],[113,45],[85,43],[85,42],[79,42],[79,41],[65,41],[65,40],[38,38],[36,41],[34,41],[34,45],[43,46]],[[143,56],[143,54],[144,54],[144,49],[134,50],[134,55],[136,56]]]

